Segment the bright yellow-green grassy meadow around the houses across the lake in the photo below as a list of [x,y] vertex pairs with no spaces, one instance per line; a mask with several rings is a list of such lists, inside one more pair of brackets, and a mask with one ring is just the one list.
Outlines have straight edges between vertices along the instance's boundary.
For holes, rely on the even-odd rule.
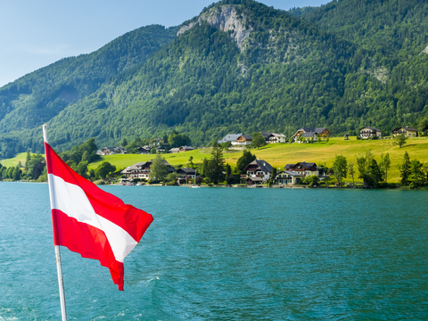
[[[251,150],[251,152],[258,158],[268,161],[272,166],[280,169],[284,169],[284,166],[288,163],[296,163],[298,161],[316,162],[318,165],[325,164],[327,167],[331,167],[336,155],[345,156],[348,162],[353,161],[354,168],[357,169],[356,157],[365,155],[368,150],[372,151],[377,161],[380,161],[382,153],[390,153],[391,169],[388,171],[388,181],[391,183],[399,182],[398,166],[403,160],[405,152],[410,155],[410,160],[428,161],[428,137],[409,138],[407,139],[407,144],[401,148],[394,144],[394,140],[391,139],[366,141],[357,140],[357,137],[354,136],[350,137],[348,141],[345,141],[342,137],[332,137],[328,143],[269,144],[260,149]],[[211,148],[202,148],[191,152],[164,154],[163,157],[173,166],[179,164],[186,166],[190,156],[193,156],[193,163],[198,163],[204,158],[210,158],[210,152]],[[241,157],[242,153],[242,151],[224,152],[226,162],[235,167],[236,161]],[[16,166],[19,161],[24,165],[25,157],[26,153],[21,152],[13,159],[4,160],[4,166]],[[95,169],[103,161],[109,161],[117,169],[125,169],[136,162],[149,161],[152,158],[153,155],[138,154],[103,156],[100,161],[89,164],[88,169]],[[350,177],[346,181],[350,182]]]

